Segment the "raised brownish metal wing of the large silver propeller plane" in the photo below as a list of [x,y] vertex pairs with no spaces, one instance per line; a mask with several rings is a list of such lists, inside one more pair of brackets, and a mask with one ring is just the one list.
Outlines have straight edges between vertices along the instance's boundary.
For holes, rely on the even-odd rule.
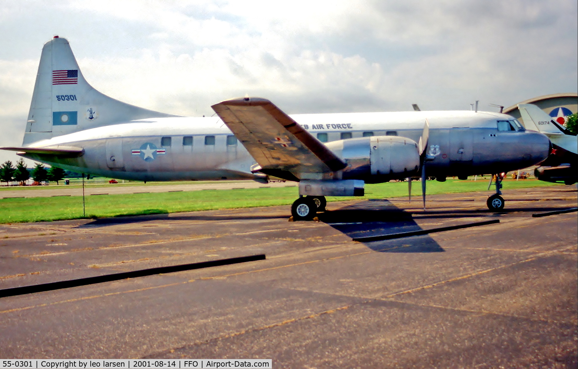
[[260,167],[254,172],[298,180],[299,173],[330,173],[346,167],[338,156],[269,100],[232,99],[212,108],[257,161]]

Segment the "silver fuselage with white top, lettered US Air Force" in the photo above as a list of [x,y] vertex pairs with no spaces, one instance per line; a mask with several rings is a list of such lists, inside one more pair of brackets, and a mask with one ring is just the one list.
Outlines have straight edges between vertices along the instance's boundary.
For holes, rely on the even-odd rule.
[[[516,125],[510,115],[499,113],[404,111],[295,114],[291,118],[321,141],[331,142],[328,147],[337,147],[338,156],[351,145],[360,146],[358,143],[364,141],[360,137],[393,135],[417,141],[427,119],[427,154],[433,157],[427,165],[430,177],[521,169],[543,161],[550,150],[546,136],[527,131]],[[512,129],[503,130],[504,124],[499,121],[511,122]],[[81,147],[83,154],[77,157],[29,152],[20,155],[95,176],[138,181],[264,180],[263,174],[251,173],[255,160],[218,117],[129,121],[56,136],[29,146]],[[360,146],[359,150],[365,149]],[[365,155],[361,151],[359,155]]]

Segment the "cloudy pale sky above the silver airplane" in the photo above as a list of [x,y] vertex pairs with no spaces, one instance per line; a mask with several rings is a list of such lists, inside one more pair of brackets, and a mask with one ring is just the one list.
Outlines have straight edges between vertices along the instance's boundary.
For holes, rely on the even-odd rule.
[[576,20],[575,0],[2,0],[0,146],[22,142],[54,35],[97,90],[168,113],[245,94],[290,114],[495,111],[578,90]]

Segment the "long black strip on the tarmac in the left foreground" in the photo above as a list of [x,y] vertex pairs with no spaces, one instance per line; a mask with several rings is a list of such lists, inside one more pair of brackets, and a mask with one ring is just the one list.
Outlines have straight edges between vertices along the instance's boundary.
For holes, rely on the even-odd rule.
[[205,262],[197,262],[190,264],[180,264],[165,267],[156,267],[149,269],[126,271],[122,273],[97,275],[95,277],[71,279],[68,281],[49,282],[38,285],[28,285],[14,288],[0,289],[0,298],[18,295],[28,295],[30,293],[46,292],[58,289],[73,288],[78,286],[86,286],[93,284],[100,284],[103,282],[120,281],[127,278],[147,277],[155,274],[175,273],[178,271],[204,269],[208,267],[231,265],[238,263],[253,262],[257,260],[265,260],[265,254],[240,256],[238,258],[228,258],[219,260],[208,260]]

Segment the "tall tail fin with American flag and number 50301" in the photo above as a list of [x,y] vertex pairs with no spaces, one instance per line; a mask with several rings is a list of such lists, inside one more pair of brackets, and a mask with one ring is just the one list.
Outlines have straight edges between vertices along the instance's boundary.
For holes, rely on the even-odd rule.
[[118,122],[176,116],[101,94],[84,79],[68,40],[55,36],[42,48],[23,145]]

